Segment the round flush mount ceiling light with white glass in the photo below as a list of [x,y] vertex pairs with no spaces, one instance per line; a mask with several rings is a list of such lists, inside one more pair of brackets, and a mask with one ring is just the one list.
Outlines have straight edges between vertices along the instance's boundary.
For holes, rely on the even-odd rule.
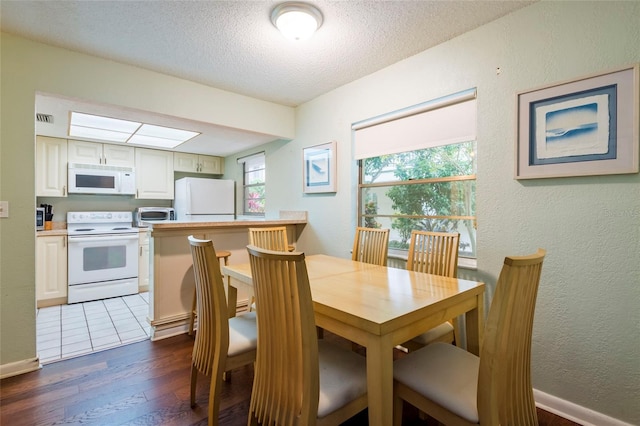
[[308,3],[281,3],[271,12],[271,22],[291,40],[307,40],[322,25],[322,13]]

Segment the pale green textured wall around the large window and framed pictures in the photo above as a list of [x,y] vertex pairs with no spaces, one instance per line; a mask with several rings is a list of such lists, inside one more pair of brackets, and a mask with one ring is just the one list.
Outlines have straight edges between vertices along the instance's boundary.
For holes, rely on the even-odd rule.
[[[640,62],[639,23],[640,2],[537,3],[302,105],[269,205],[309,211],[303,250],[348,257],[351,123],[477,87],[477,276],[493,288],[504,256],[546,248],[534,387],[640,424],[640,175],[513,179],[516,93]],[[330,140],[338,192],[304,196],[301,150]]]

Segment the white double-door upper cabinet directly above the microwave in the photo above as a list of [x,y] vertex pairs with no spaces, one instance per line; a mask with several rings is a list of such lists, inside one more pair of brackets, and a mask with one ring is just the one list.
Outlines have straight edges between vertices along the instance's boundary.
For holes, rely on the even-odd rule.
[[134,167],[135,149],[127,145],[69,139],[69,162]]

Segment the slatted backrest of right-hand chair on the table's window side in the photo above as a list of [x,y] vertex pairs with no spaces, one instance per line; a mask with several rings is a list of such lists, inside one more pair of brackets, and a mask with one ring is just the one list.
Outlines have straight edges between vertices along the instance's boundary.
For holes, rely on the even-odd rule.
[[456,278],[460,234],[411,231],[407,269]]

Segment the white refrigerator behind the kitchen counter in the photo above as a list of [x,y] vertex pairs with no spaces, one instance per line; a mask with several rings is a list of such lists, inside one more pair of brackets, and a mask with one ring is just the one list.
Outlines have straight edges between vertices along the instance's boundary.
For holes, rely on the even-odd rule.
[[176,219],[217,222],[235,219],[235,182],[229,179],[185,177],[175,182]]

